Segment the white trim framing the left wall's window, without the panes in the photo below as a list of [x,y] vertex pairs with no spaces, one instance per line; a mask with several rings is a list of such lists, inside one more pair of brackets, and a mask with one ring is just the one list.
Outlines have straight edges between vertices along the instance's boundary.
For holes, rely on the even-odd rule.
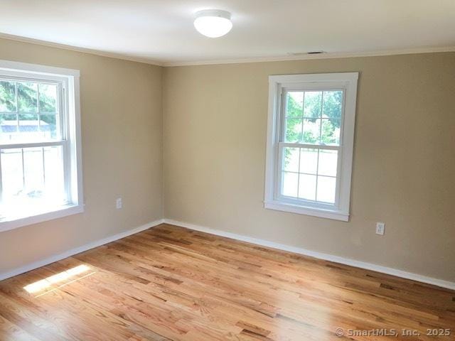
[[[23,217],[8,217],[0,214],[0,232],[16,229],[29,224],[54,220],[68,215],[84,212],[83,185],[82,185],[82,144],[80,129],[80,71],[28,63],[19,63],[9,60],[0,60],[0,73],[16,77],[36,77],[41,80],[60,80],[65,82],[65,97],[67,97],[68,111],[67,134],[70,167],[65,170],[65,178],[70,177],[71,203],[58,207],[49,207],[37,214],[24,214]],[[25,144],[24,144],[25,146]]]

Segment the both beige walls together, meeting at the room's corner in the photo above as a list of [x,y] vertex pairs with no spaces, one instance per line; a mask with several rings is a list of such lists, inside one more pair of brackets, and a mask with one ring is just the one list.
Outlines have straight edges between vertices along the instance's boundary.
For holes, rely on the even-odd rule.
[[[0,39],[0,59],[80,70],[86,204],[1,232],[0,274],[165,206],[169,219],[455,281],[455,53],[161,68]],[[350,222],[265,210],[267,77],[349,71],[360,72]]]

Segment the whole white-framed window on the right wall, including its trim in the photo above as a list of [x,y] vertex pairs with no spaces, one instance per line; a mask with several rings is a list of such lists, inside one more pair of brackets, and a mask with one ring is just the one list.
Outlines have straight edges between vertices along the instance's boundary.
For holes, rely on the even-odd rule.
[[269,77],[264,207],[348,221],[357,80]]

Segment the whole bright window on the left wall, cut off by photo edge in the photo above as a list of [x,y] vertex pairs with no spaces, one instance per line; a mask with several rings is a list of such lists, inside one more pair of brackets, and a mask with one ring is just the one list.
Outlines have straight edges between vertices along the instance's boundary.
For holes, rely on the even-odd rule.
[[0,60],[0,231],[82,212],[79,71]]

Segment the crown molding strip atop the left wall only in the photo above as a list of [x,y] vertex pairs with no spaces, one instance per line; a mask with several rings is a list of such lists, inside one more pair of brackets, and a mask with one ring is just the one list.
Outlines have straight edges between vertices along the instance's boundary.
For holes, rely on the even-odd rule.
[[50,48],[61,48],[63,50],[70,50],[70,51],[81,52],[81,53],[89,53],[90,55],[100,55],[101,57],[128,60],[130,62],[144,63],[144,64],[156,65],[156,66],[164,65],[164,63],[161,63],[158,60],[132,57],[130,55],[122,55],[121,53],[110,53],[110,52],[105,52],[105,51],[100,51],[100,50],[92,50],[91,48],[77,48],[75,46],[70,46],[70,45],[65,45],[65,44],[60,44],[60,43],[52,43],[49,41],[38,40],[38,39],[33,39],[33,38],[14,36],[11,34],[6,34],[6,33],[0,33],[0,38],[8,39],[8,40],[16,40],[16,41],[20,41],[22,43],[43,45],[43,46],[48,46]]

